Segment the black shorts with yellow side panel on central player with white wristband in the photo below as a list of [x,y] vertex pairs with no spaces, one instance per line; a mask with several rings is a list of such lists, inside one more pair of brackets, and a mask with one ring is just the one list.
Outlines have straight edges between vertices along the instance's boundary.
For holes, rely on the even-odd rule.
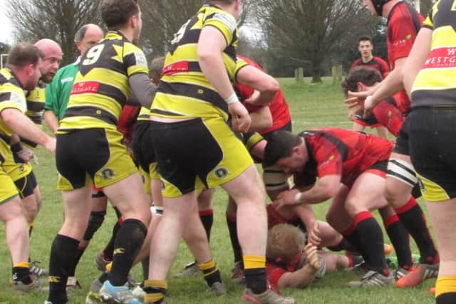
[[253,164],[246,147],[222,117],[152,121],[149,130],[165,197],[217,187]]

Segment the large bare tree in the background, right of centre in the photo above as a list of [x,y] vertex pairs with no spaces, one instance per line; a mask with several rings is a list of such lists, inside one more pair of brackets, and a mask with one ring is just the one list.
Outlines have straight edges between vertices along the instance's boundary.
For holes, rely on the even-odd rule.
[[263,0],[257,16],[268,48],[308,64],[312,82],[321,81],[321,65],[333,48],[372,24],[358,1],[346,0]]

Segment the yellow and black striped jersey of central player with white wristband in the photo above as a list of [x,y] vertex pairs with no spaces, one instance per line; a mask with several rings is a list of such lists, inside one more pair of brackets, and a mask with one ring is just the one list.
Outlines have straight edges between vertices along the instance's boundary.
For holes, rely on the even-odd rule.
[[171,41],[165,57],[160,84],[152,102],[152,115],[160,117],[224,117],[228,119],[227,103],[209,83],[199,67],[197,43],[204,26],[214,26],[227,41],[223,62],[234,81],[239,38],[234,16],[217,6],[204,5]]

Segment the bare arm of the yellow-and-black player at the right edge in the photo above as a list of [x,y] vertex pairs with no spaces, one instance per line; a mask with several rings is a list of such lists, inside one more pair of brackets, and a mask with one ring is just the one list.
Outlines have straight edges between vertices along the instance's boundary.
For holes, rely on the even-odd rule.
[[408,96],[412,90],[413,81],[416,75],[420,72],[425,64],[427,56],[430,52],[430,45],[432,42],[432,30],[430,28],[421,28],[413,43],[412,51],[405,62],[407,68],[403,69],[403,83]]

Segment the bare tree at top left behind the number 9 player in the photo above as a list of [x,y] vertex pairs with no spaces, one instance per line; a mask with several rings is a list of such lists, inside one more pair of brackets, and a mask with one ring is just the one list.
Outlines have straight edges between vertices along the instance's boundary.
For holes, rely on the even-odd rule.
[[74,36],[86,23],[101,23],[101,0],[16,0],[8,1],[6,11],[13,23],[16,41],[51,38],[63,51],[62,64],[76,57]]

